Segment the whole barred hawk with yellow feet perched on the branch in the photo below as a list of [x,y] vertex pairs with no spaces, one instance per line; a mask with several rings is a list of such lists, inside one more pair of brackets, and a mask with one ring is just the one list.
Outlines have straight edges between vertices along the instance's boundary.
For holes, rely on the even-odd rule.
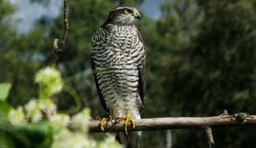
[[[127,124],[140,119],[145,98],[146,51],[135,26],[139,11],[129,5],[112,9],[92,36],[92,71],[102,106],[112,118],[125,120],[117,139],[127,147],[140,147],[141,131],[127,132]],[[104,131],[103,118],[100,122]]]

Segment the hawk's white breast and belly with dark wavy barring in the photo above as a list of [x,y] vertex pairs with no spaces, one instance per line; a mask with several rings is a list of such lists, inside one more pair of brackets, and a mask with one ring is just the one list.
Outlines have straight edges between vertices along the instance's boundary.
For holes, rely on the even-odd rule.
[[134,102],[139,81],[139,63],[145,54],[134,26],[101,28],[92,38],[92,59],[106,103]]

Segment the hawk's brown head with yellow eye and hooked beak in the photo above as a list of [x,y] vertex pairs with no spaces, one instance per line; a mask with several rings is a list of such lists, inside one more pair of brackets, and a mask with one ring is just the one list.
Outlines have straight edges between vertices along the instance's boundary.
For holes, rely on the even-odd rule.
[[134,24],[135,20],[140,20],[140,17],[139,11],[135,7],[120,5],[109,12],[106,22],[109,24],[130,26]]

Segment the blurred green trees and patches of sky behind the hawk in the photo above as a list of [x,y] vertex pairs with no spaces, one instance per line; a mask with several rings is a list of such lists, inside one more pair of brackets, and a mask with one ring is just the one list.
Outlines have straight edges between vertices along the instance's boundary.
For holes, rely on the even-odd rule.
[[[255,0],[68,1],[69,33],[57,69],[92,117],[107,116],[92,77],[90,40],[108,11],[140,10],[146,40],[146,102],[142,118],[256,114]],[[0,82],[11,82],[11,106],[38,94],[34,74],[53,61],[63,34],[63,1],[0,0]],[[76,106],[65,92],[59,110]],[[216,147],[255,147],[255,126],[215,128]],[[96,134],[95,136],[97,137]],[[147,131],[143,147],[207,147],[203,131]]]

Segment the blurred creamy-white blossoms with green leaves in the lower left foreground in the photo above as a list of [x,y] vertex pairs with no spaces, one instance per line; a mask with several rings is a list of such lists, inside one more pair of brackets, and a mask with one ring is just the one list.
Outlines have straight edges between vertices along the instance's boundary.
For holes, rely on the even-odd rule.
[[[40,89],[43,91],[40,94],[50,97],[56,90],[56,81],[47,81],[47,79],[54,77],[61,81],[60,76],[59,71],[50,67],[38,71],[35,81],[41,85],[43,82],[44,87],[48,88],[47,91]],[[62,87],[61,83],[58,85]],[[5,91],[1,92],[7,94],[9,85],[3,85],[3,88]],[[58,89],[57,92],[60,90]],[[47,118],[44,117],[46,113]],[[84,108],[70,118],[67,114],[56,114],[56,106],[49,98],[30,100],[24,107],[19,106],[17,109],[9,107],[7,116],[0,114],[0,144],[1,147],[121,147],[112,135],[106,136],[103,141],[95,141],[90,137],[88,135],[90,119],[89,108]],[[73,131],[67,128],[71,120]]]

